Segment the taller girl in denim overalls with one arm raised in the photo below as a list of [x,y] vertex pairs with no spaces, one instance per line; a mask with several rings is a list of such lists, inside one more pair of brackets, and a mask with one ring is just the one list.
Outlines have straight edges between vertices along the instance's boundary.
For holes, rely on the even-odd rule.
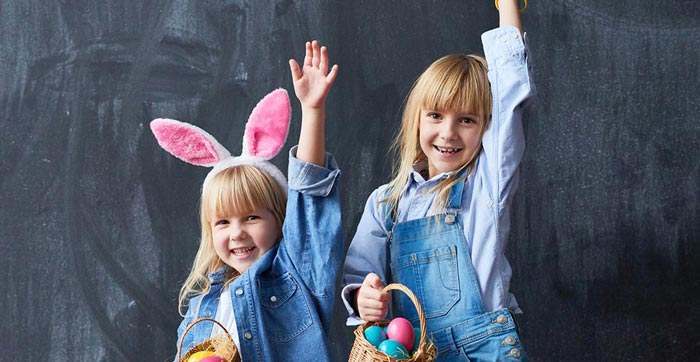
[[[371,194],[345,261],[348,324],[384,319],[391,298],[381,289],[402,283],[423,305],[439,361],[525,357],[504,248],[531,84],[518,1],[496,4],[501,27],[482,35],[486,60],[440,58],[413,85],[395,177]],[[392,312],[417,326],[408,298]]]

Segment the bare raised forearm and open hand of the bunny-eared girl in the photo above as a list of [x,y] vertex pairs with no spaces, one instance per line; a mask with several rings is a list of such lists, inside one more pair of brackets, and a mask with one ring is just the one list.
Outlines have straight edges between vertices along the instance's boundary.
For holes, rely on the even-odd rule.
[[289,68],[302,114],[297,158],[325,166],[326,96],[338,74],[338,65],[328,71],[328,49],[314,40],[306,42],[303,67],[290,59]]

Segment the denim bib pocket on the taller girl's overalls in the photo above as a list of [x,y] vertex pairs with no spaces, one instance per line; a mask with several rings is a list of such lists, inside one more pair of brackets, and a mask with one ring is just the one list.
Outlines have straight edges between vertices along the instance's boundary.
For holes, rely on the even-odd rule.
[[[418,297],[426,318],[442,317],[459,301],[457,247],[449,245],[399,256],[393,271],[397,281]],[[416,321],[416,308],[399,299],[400,312]]]

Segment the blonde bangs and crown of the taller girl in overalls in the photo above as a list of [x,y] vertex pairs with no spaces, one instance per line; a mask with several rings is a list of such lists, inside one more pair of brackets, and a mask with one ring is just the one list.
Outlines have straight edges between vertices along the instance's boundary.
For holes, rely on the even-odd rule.
[[458,111],[486,117],[491,89],[485,64],[470,56],[451,55],[432,64],[417,87],[421,106],[438,112]]

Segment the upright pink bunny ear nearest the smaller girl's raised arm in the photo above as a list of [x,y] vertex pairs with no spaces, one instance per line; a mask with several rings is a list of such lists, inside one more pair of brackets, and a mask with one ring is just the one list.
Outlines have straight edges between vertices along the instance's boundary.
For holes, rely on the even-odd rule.
[[266,95],[250,113],[243,135],[243,155],[265,160],[275,157],[289,133],[292,105],[287,91],[279,88]]

